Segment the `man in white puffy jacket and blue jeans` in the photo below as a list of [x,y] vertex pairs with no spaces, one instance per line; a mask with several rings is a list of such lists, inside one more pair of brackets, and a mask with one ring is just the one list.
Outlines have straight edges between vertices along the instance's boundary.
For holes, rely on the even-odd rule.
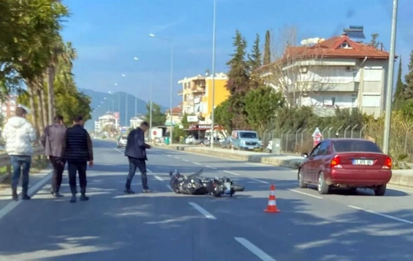
[[32,143],[36,140],[36,131],[28,120],[25,119],[27,112],[21,107],[17,107],[16,116],[10,117],[3,128],[3,137],[6,141],[6,152],[10,155],[12,163],[12,198],[19,200],[17,195],[17,185],[19,185],[20,175],[23,174],[21,199],[28,200],[29,172],[32,163]]

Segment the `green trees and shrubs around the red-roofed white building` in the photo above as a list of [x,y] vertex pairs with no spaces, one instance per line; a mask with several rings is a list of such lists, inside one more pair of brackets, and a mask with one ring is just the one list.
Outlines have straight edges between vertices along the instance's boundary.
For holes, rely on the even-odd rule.
[[[379,146],[383,140],[384,115],[378,119],[361,113],[358,109],[335,109],[333,115],[324,115],[308,106],[299,106],[289,98],[284,91],[288,87],[281,86],[276,92],[264,84],[264,79],[257,76],[257,69],[262,66],[271,66],[275,71],[273,76],[279,77],[277,82],[283,82],[278,61],[286,46],[296,42],[296,30],[286,27],[279,32],[278,48],[271,46],[270,32],[266,32],[264,54],[260,51],[260,36],[253,43],[251,51],[247,52],[247,43],[239,31],[233,37],[234,52],[227,65],[229,67],[229,81],[226,88],[230,92],[229,99],[222,102],[215,109],[215,122],[231,133],[235,129],[255,130],[261,136],[268,130],[274,133],[297,133],[300,130],[316,127],[323,129],[330,127],[339,130],[341,126],[354,127],[353,131],[360,133],[359,137],[372,139]],[[370,45],[377,47],[377,34],[372,35]],[[402,60],[399,57],[399,71],[397,74],[396,91],[392,111],[392,133],[390,141],[390,155],[395,161],[413,161],[413,51],[410,54],[408,71],[404,76]],[[294,72],[293,72],[294,73]],[[294,77],[294,76],[291,76]],[[283,84],[281,84],[283,85]],[[294,84],[296,85],[296,84]],[[295,91],[302,88],[295,87]],[[297,93],[299,94],[299,93]],[[343,131],[343,130],[341,130]],[[308,139],[312,139],[308,136]],[[302,144],[302,143],[301,143]],[[306,142],[304,148],[295,148],[297,151],[308,151],[312,141]]]

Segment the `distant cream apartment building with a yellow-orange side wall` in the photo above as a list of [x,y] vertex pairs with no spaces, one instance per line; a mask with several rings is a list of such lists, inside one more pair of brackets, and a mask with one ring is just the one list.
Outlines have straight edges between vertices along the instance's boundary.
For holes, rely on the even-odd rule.
[[[229,97],[229,91],[226,89],[228,78],[224,73],[215,74],[215,107],[220,105]],[[184,78],[178,81],[182,84],[182,114],[196,115],[200,122],[211,122],[212,111],[212,76],[194,76]]]

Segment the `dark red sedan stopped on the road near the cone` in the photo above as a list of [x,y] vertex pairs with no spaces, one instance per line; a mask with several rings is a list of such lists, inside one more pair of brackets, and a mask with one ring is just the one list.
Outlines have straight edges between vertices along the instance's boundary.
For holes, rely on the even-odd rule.
[[392,177],[392,159],[366,139],[325,139],[301,155],[306,159],[298,169],[299,188],[317,185],[319,194],[370,188],[383,196]]

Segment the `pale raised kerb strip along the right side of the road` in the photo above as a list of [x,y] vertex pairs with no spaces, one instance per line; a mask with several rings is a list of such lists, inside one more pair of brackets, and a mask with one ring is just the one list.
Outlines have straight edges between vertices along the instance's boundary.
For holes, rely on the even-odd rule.
[[[291,168],[297,170],[299,164],[302,162],[301,159],[276,159],[274,157],[262,157],[261,155],[240,155],[231,152],[221,152],[221,151],[211,151],[204,150],[200,147],[195,146],[180,146],[180,145],[160,145],[152,144],[154,147],[165,148],[168,150],[183,150],[188,152],[195,152],[202,155],[211,155],[218,157],[226,157],[229,159],[240,159],[242,161],[254,162],[254,163],[264,163],[271,166]],[[399,185],[403,187],[413,188],[413,170],[410,173],[401,173],[392,171],[392,178],[390,179],[390,185]]]

